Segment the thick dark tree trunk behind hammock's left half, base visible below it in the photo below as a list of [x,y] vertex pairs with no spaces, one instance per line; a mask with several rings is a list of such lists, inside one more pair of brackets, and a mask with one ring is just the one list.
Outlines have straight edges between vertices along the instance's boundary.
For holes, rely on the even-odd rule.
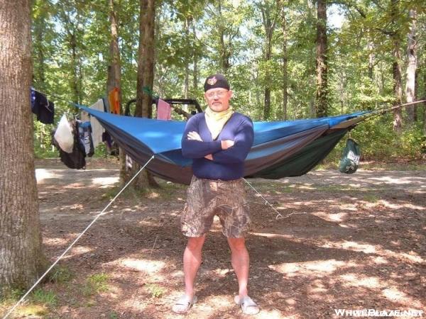
[[[155,39],[155,0],[140,0],[139,18],[139,49],[138,49],[138,81],[136,87],[135,116],[152,117],[152,96],[154,80],[154,39]],[[148,160],[148,159],[147,159]],[[139,169],[133,165],[133,172]],[[158,187],[152,175],[139,174],[133,186],[136,189],[146,189],[147,186]]]

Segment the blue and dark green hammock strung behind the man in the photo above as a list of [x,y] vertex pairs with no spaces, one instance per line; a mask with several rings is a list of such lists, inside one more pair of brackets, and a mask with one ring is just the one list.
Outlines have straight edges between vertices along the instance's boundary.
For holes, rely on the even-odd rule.
[[[118,116],[79,106],[104,126],[120,147],[147,169],[181,184],[190,184],[192,159],[182,157],[185,122]],[[279,179],[300,176],[315,167],[349,128],[370,112],[298,121],[254,122],[254,142],[245,162],[246,177]]]

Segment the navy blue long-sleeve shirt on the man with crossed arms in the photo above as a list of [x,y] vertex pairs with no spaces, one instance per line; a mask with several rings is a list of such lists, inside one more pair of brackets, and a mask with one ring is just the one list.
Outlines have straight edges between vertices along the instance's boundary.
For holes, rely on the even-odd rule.
[[[201,139],[188,140],[188,133],[195,131]],[[204,113],[198,113],[189,119],[182,136],[182,155],[192,158],[192,172],[201,179],[222,179],[230,181],[244,176],[244,159],[253,145],[253,123],[241,113],[232,114],[229,121],[212,139]],[[234,146],[222,150],[222,140],[233,140]],[[213,160],[204,156],[212,154]]]

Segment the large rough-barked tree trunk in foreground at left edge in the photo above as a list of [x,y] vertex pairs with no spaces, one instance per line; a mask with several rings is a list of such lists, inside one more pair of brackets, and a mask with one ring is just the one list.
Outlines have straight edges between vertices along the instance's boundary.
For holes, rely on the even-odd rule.
[[0,2],[0,295],[27,289],[45,267],[29,94],[30,2]]

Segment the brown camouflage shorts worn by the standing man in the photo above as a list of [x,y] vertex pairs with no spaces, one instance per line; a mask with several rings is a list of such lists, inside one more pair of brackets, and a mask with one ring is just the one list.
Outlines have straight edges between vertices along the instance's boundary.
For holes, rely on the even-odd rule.
[[244,237],[249,231],[249,206],[243,179],[233,181],[192,177],[187,191],[187,204],[180,217],[183,235],[200,237],[212,227],[219,216],[226,237]]

